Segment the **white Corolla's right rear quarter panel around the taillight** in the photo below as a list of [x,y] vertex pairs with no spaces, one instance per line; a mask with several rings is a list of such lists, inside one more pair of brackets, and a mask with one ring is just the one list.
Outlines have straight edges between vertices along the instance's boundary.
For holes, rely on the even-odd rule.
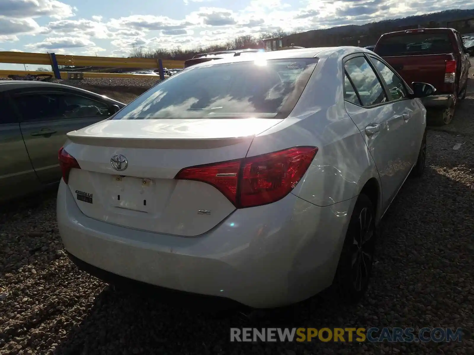
[[315,159],[292,194],[318,206],[351,199],[369,178],[378,179],[361,133],[344,107],[340,61],[321,59],[290,116],[257,135],[247,153],[317,146]]

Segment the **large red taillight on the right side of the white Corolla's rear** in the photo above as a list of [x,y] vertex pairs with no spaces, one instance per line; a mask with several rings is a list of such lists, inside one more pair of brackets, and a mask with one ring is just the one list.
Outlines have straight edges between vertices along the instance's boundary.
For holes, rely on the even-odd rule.
[[317,152],[316,147],[294,147],[242,160],[185,168],[175,178],[208,183],[237,208],[259,206],[288,195]]

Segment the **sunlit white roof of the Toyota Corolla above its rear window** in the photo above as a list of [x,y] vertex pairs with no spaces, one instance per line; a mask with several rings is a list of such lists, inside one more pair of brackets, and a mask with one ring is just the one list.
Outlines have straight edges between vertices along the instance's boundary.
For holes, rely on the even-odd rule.
[[374,55],[374,52],[355,46],[340,46],[340,47],[318,47],[318,48],[297,48],[297,49],[288,49],[285,51],[273,51],[273,52],[260,52],[260,53],[249,53],[244,56],[230,56],[222,59],[216,59],[213,61],[202,62],[194,64],[189,68],[196,68],[208,65],[216,65],[223,63],[232,63],[232,62],[250,62],[259,58],[262,60],[272,60],[272,59],[291,59],[291,58],[315,58],[319,59],[327,58],[329,56],[334,56],[337,54],[338,57],[342,59],[343,56],[351,53],[370,53]]

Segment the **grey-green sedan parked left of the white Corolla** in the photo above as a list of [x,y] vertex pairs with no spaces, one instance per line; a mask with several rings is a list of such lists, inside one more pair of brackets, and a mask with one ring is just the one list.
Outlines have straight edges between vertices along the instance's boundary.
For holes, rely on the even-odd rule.
[[0,201],[61,179],[66,133],[108,118],[125,104],[41,81],[0,81]]

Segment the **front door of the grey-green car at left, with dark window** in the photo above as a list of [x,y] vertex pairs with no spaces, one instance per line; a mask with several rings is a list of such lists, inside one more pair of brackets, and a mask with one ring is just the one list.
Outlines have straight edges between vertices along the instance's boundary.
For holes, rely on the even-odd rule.
[[66,141],[66,133],[110,115],[105,100],[78,95],[72,90],[22,91],[12,98],[31,163],[44,184],[61,178],[58,151]]

